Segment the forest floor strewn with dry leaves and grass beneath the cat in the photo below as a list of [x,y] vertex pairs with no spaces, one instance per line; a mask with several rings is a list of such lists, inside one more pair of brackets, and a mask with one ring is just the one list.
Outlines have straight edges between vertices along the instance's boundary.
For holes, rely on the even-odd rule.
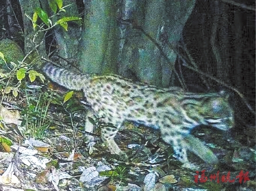
[[209,127],[193,131],[220,162],[207,165],[189,154],[198,167],[190,170],[173,157],[158,131],[127,123],[115,138],[128,155],[123,161],[101,141],[97,122],[95,141],[86,143],[87,106],[79,93],[62,103],[59,92],[51,92],[30,91],[26,96],[35,102],[27,97],[26,105],[20,96],[15,103],[26,108],[17,110],[22,123],[16,124],[12,112],[7,117],[14,124],[2,124],[0,190],[255,190],[255,150],[230,133]]

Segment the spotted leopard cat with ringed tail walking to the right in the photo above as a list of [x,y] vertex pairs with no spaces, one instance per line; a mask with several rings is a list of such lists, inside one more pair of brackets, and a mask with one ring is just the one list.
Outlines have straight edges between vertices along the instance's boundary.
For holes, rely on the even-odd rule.
[[228,130],[234,125],[233,110],[227,96],[218,93],[192,93],[181,88],[159,88],[135,83],[117,75],[90,76],[71,72],[46,63],[44,73],[55,83],[68,89],[82,90],[93,112],[111,127],[102,127],[101,137],[112,154],[124,158],[114,137],[125,121],[143,124],[161,131],[166,143],[173,145],[174,157],[192,167],[187,150],[203,161],[218,162],[217,157],[190,131],[205,124]]

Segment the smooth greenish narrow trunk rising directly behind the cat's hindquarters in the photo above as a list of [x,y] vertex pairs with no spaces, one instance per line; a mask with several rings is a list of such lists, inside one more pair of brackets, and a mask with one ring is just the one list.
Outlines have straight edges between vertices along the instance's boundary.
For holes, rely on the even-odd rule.
[[87,73],[116,73],[116,1],[92,0],[85,7],[88,13],[78,53],[79,66]]

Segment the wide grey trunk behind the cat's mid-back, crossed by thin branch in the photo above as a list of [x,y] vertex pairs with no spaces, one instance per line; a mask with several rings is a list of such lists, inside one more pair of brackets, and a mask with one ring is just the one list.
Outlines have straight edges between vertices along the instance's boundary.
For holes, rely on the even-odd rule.
[[175,46],[195,1],[125,2],[122,20],[129,21],[133,28],[124,25],[121,75],[132,71],[139,81],[169,87],[177,57]]

